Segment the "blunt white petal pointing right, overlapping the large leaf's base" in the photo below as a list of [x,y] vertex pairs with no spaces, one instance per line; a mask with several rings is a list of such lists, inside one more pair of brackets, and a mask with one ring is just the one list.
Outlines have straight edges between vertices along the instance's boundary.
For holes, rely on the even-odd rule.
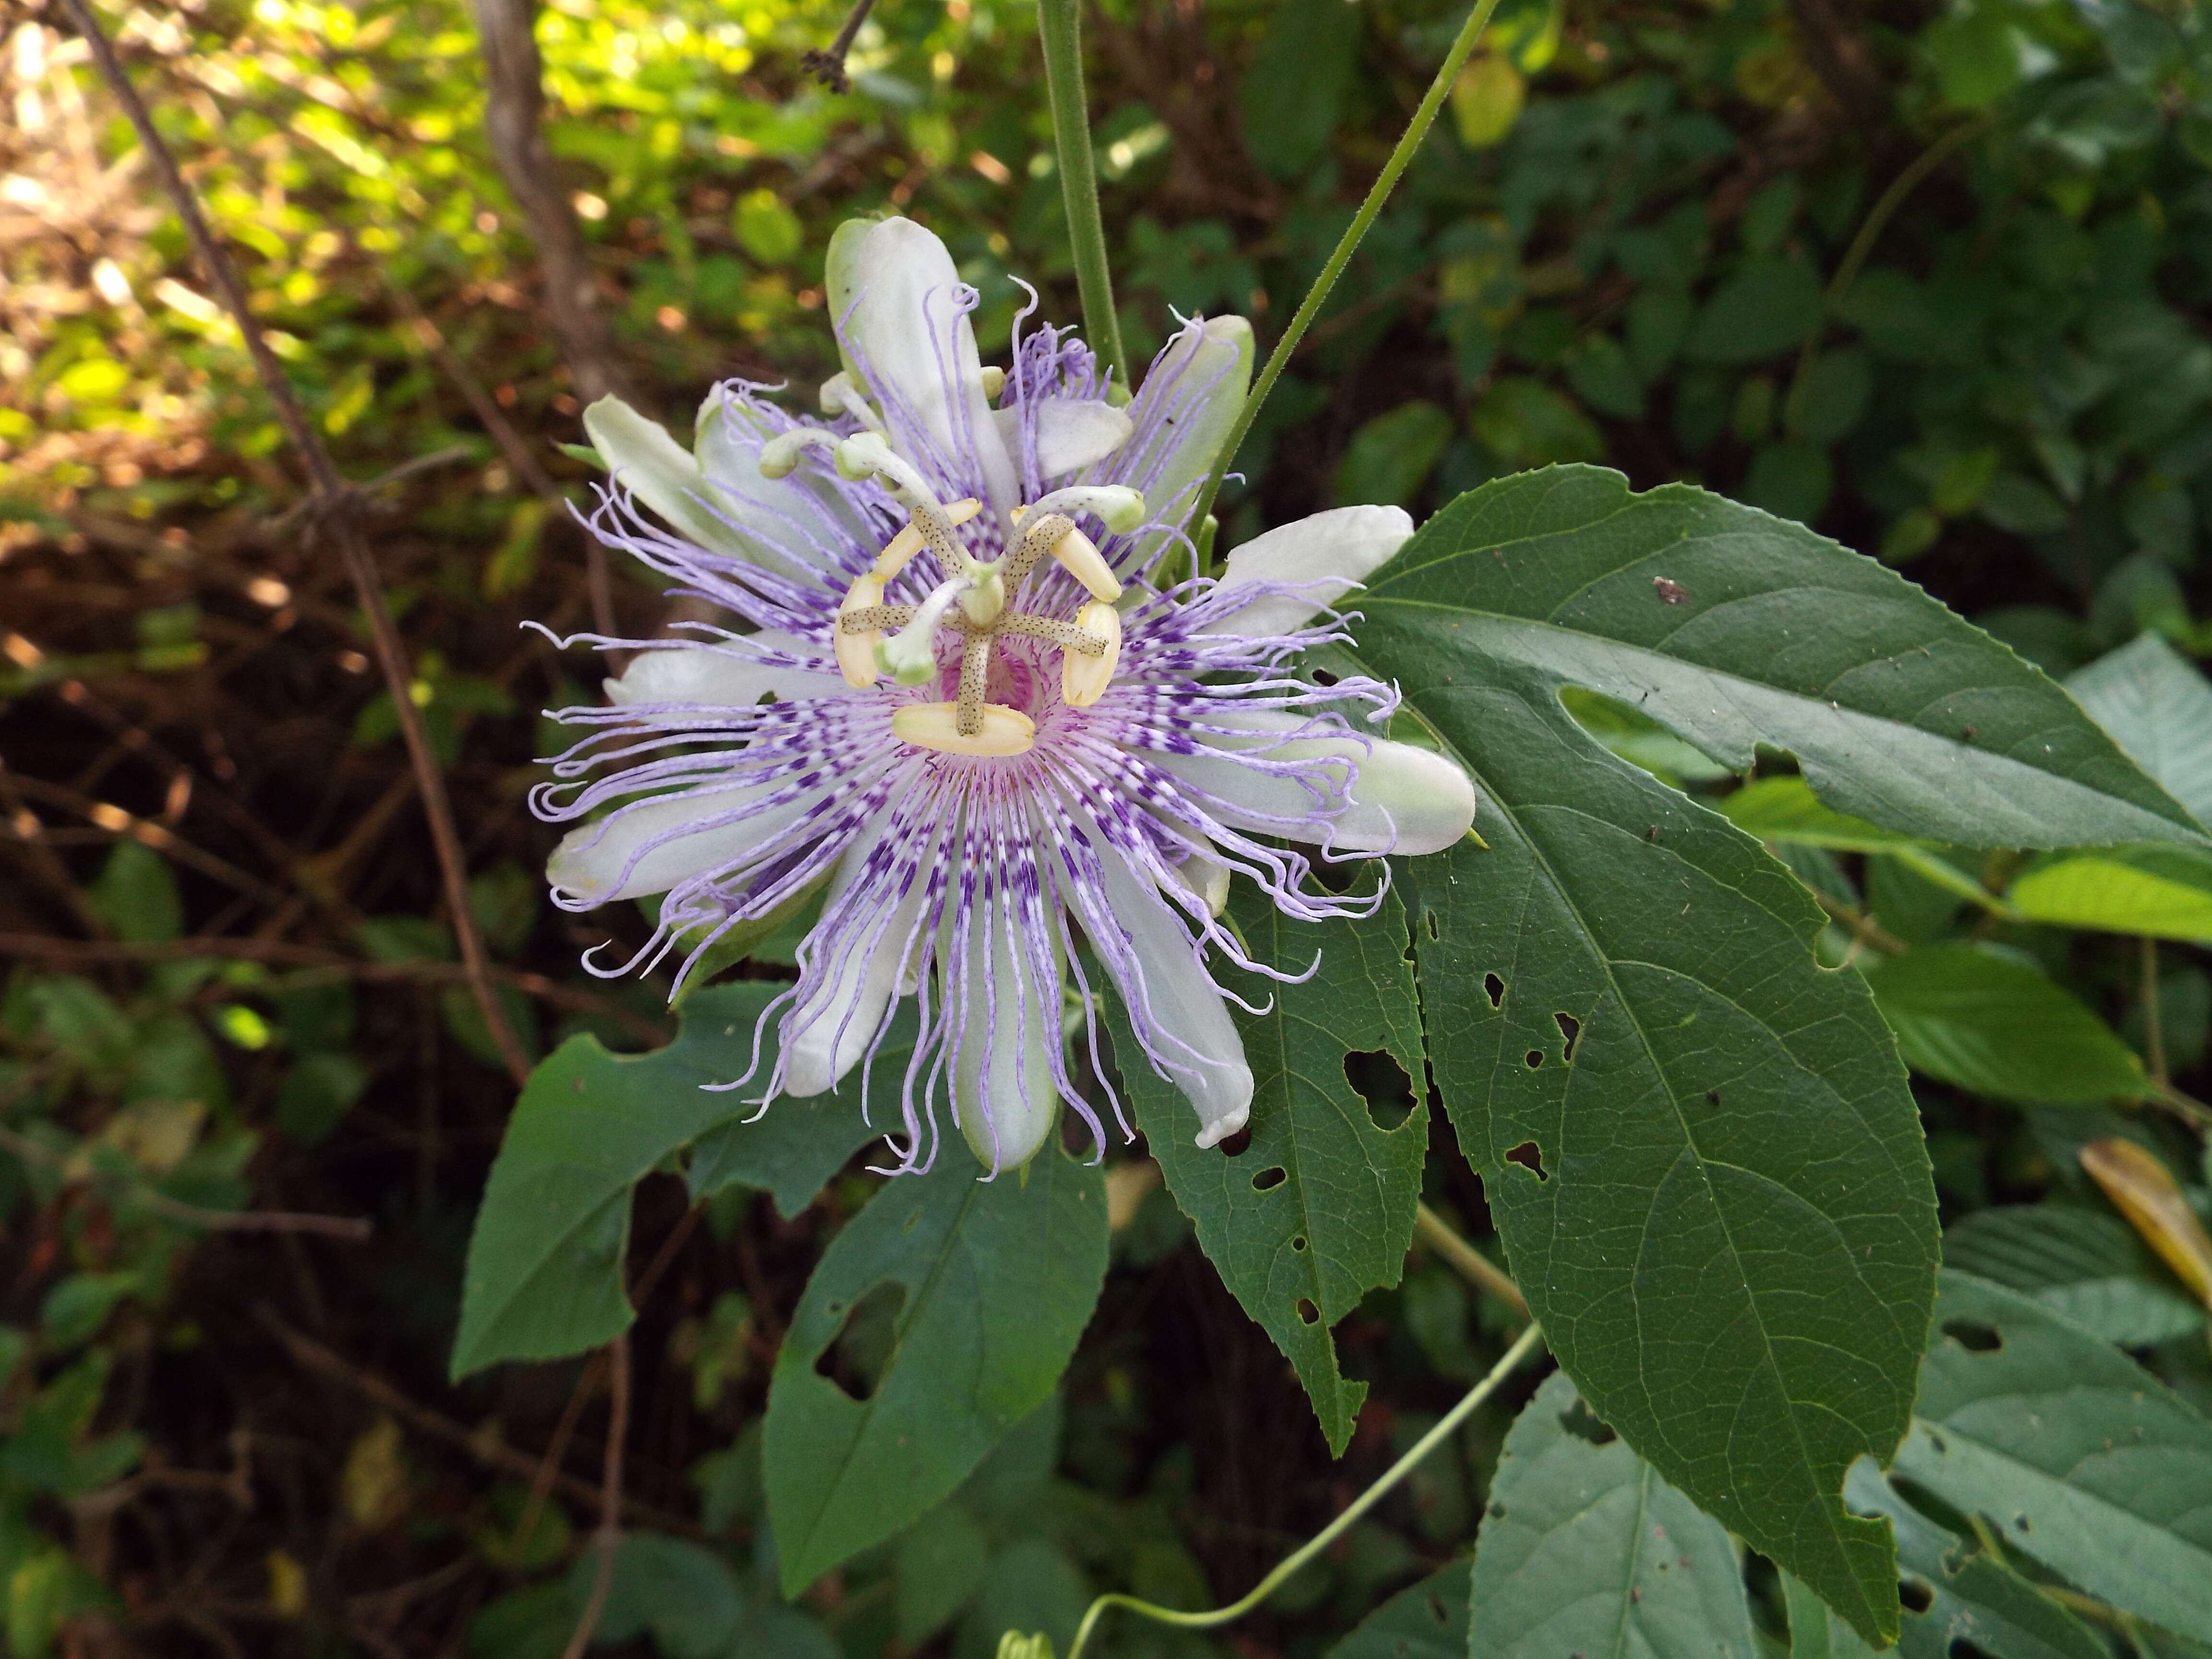
[[[1389,739],[1301,737],[1274,741],[1305,726],[1305,717],[1279,708],[1223,710],[1219,726],[1241,726],[1250,739],[1208,737],[1214,752],[1159,754],[1146,752],[1155,765],[1208,790],[1228,807],[1217,816],[1239,830],[1318,838],[1336,852],[1400,852],[1407,856],[1442,852],[1460,841],[1475,821],[1475,785],[1467,772],[1433,750]],[[1305,818],[1327,812],[1340,794],[1334,790],[1338,768],[1314,776],[1329,799],[1316,803],[1303,781],[1254,772],[1232,761],[1232,750],[1265,750],[1267,761],[1340,759],[1358,774],[1345,810],[1314,830],[1298,830],[1276,818]],[[1237,807],[1245,807],[1237,812]]]

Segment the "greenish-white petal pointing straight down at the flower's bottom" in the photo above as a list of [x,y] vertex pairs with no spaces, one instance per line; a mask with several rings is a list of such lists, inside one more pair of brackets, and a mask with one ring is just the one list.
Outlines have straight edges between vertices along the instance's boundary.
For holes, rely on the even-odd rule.
[[[938,958],[953,978],[951,940]],[[1060,1046],[1060,973],[1035,982],[1029,956],[1015,958],[1004,911],[978,905],[958,962],[958,1013],[951,1082],[953,1113],[969,1148],[991,1170],[1029,1164],[1060,1115],[1053,1051]],[[993,1006],[995,1004],[995,1006]]]

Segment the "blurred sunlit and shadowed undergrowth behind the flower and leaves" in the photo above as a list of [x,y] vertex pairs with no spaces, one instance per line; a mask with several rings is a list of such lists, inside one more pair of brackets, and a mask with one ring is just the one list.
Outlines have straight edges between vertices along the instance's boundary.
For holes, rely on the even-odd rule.
[[[511,1020],[533,1055],[577,1029],[655,1046],[659,993],[575,962],[626,918],[542,902],[549,834],[522,801],[535,710],[591,697],[595,666],[515,624],[586,626],[604,597],[650,635],[666,608],[595,573],[562,507],[586,478],[555,449],[580,436],[580,372],[487,148],[469,11],[106,20],[312,418],[376,480],[411,701]],[[843,93],[799,69],[838,22],[785,0],[555,0],[538,22],[611,361],[672,425],[717,378],[832,367],[821,252],[852,212],[947,237],[987,349],[1011,276],[1075,316],[1033,9],[880,0]],[[1400,0],[1088,13],[1133,352],[1175,310],[1272,336],[1458,22]],[[555,1655],[606,1383],[588,1363],[445,1383],[513,1091],[460,982],[394,706],[237,332],[82,46],[60,13],[7,29],[4,1646]],[[2185,666],[2212,653],[2208,159],[2212,53],[2185,4],[1509,0],[1254,431],[1225,535],[1604,460],[1907,564],[2057,675],[2128,648],[2088,681],[2099,714],[2168,699],[2168,732],[2212,730]],[[1785,768],[1745,785],[1630,712],[1582,712],[1772,838],[1838,918],[1832,960],[1874,964],[1953,1259],[2086,1307],[2212,1405],[2212,1267],[2146,1248],[2079,1157],[2135,1141],[2203,1208],[2212,898],[1885,838],[1823,816]],[[2161,776],[2205,812],[2212,761],[2194,799]],[[2051,898],[2084,876],[2101,898]],[[743,971],[779,973],[774,947]],[[1420,1108],[1398,1075],[1356,1082],[1385,1117]],[[1371,1396],[1332,1462],[1157,1175],[1115,1159],[1115,1267],[1062,1400],[953,1511],[796,1610],[761,1564],[757,1418],[805,1274],[874,1181],[849,1170],[783,1219],[741,1188],[695,1217],[648,1179],[626,1486],[628,1524],[666,1544],[626,1553],[602,1637],[672,1659],[969,1659],[1009,1626],[1064,1646],[1099,1588],[1206,1606],[1502,1349],[1511,1310],[1418,1250],[1338,1329]],[[1427,1199],[1486,1237],[1442,1133]],[[1318,1652],[1462,1548],[1520,1398],[1230,1639]],[[677,1604],[703,1624],[655,1617]],[[1761,1617],[1781,1632],[1778,1593]],[[2090,1619],[2099,1641],[2185,1650]]]

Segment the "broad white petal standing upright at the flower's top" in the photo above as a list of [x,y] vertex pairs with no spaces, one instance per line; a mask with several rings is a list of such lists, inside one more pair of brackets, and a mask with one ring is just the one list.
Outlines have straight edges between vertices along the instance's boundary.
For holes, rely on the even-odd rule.
[[960,272],[945,243],[911,219],[883,219],[856,239],[838,230],[827,272],[841,349],[883,405],[894,447],[925,471],[936,462],[967,482],[973,456],[1000,511],[1018,500],[1013,462],[982,392],[975,330],[958,307]]

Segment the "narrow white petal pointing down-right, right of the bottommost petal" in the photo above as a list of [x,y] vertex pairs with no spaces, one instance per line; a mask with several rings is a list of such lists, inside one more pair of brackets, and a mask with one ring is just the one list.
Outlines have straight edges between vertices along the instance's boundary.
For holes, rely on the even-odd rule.
[[1146,1009],[1166,1037],[1161,1062],[1199,1113],[1199,1146],[1219,1146],[1252,1117],[1252,1068],[1237,1022],[1199,964],[1183,916],[1121,854],[1102,856],[1099,869],[1141,978],[1141,984],[1121,982],[1121,995]]

